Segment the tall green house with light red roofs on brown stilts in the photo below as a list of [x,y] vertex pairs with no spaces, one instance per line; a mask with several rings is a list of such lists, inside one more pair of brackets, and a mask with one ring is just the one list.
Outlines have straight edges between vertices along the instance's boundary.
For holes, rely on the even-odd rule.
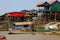
[[50,2],[39,2],[37,7],[44,7],[45,20],[60,20],[60,2],[58,0],[52,0]]

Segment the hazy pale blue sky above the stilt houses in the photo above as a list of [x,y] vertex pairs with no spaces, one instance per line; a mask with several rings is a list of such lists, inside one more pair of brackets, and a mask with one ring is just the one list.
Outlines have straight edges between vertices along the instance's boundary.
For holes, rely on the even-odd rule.
[[0,15],[8,12],[19,12],[21,10],[37,9],[36,4],[51,0],[0,0]]

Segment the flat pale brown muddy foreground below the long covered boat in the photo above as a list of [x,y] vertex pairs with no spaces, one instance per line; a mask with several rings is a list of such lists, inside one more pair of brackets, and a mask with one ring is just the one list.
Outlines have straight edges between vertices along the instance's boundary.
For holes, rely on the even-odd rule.
[[8,34],[0,32],[0,35],[5,35],[7,40],[60,40],[59,35],[43,35],[43,34]]

